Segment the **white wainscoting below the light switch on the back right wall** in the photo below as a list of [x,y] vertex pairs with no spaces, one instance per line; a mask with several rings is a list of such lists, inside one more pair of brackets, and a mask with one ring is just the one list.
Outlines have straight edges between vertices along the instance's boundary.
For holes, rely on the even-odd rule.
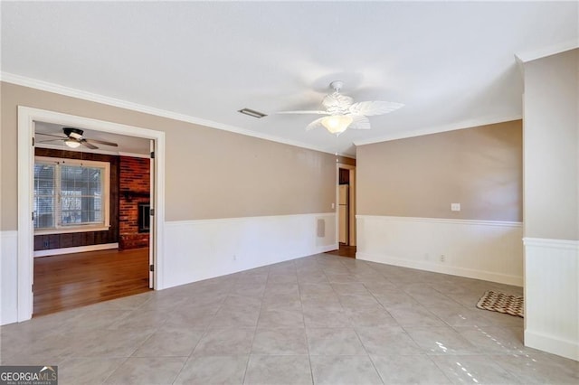
[[356,221],[358,259],[523,286],[520,222],[373,215]]

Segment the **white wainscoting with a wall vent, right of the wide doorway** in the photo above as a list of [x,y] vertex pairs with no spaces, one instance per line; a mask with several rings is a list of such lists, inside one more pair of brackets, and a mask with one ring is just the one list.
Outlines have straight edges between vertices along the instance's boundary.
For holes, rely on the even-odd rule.
[[167,221],[164,287],[337,249],[336,214]]

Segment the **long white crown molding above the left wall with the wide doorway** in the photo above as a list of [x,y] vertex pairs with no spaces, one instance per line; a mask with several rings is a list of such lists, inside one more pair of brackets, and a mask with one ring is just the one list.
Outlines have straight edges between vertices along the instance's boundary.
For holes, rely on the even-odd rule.
[[[236,127],[231,125],[226,125],[223,123],[215,122],[213,120],[207,120],[200,117],[191,117],[185,114],[179,114],[176,112],[167,111],[161,108],[154,108],[145,106],[138,103],[133,103],[127,100],[122,99],[115,99],[110,98],[104,95],[95,94],[92,92],[84,91],[81,89],[72,89],[70,87],[62,86],[60,84],[51,83],[44,80],[36,80],[32,78],[27,78],[21,75],[16,75],[10,72],[0,72],[0,80],[5,81],[6,83],[15,84],[18,86],[28,87],[31,89],[40,89],[47,92],[52,92],[55,94],[76,98],[76,99],[83,99],[88,100],[100,104],[105,104],[107,106],[117,107],[117,108],[125,108],[132,111],[142,112],[148,115],[154,115],[157,117],[166,117],[169,119],[191,123],[197,126],[204,126],[209,128],[216,128],[223,131],[233,132],[235,134],[241,134],[244,136],[252,136],[257,137],[259,139],[269,140],[271,142],[281,143],[283,145],[289,146],[297,146],[306,148],[308,150],[319,151],[326,154],[335,155],[334,151],[330,151],[318,146],[308,145],[307,143],[286,139],[280,136],[273,136],[269,134],[262,134],[259,132],[251,131],[242,127]],[[342,155],[342,154],[338,154]],[[342,155],[346,157],[352,157],[352,155]]]

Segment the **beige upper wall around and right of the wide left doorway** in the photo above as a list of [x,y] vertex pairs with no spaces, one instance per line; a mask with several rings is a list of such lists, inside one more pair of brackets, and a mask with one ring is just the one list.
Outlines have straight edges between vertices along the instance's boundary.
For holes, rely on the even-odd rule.
[[0,230],[17,229],[17,106],[166,133],[166,220],[333,212],[334,155],[2,84]]

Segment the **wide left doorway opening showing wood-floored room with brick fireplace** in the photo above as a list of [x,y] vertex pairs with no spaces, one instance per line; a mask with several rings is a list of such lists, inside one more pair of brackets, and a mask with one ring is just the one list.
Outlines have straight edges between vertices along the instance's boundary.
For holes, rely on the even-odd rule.
[[149,290],[149,139],[62,131],[35,124],[33,317]]

